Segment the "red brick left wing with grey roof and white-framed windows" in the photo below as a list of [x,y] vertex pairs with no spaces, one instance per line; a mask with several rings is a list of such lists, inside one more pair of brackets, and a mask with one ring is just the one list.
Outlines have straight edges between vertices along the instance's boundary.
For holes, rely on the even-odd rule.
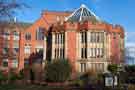
[[26,23],[0,23],[0,70],[20,69],[21,33],[28,28]]

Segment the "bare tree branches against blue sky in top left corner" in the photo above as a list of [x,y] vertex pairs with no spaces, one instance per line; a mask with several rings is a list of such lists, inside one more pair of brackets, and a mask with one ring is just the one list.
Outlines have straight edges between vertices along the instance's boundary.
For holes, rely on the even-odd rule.
[[11,20],[16,11],[28,7],[19,0],[0,0],[0,21]]

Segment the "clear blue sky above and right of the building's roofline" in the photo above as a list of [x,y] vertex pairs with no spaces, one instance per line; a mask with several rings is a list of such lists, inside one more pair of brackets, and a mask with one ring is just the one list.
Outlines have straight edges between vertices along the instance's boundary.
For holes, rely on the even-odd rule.
[[120,24],[127,34],[127,42],[135,42],[135,0],[21,0],[30,8],[17,13],[18,21],[34,22],[43,10],[70,11],[85,4],[102,20]]

